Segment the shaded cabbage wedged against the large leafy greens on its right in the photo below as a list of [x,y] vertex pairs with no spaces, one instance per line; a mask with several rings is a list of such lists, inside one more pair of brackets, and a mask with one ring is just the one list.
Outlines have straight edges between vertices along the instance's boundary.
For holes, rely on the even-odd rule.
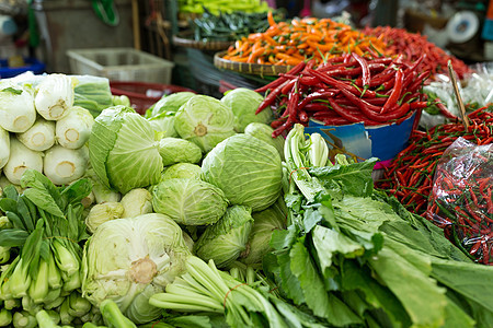
[[240,255],[240,261],[248,266],[260,267],[262,259],[271,250],[271,237],[275,230],[286,229],[287,209],[282,197],[270,208],[255,212],[253,227],[246,249]]

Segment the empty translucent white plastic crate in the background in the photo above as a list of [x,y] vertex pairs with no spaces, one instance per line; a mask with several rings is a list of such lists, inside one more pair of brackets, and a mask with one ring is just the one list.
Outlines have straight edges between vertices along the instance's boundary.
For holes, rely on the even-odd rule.
[[134,48],[67,50],[73,74],[169,84],[174,63]]

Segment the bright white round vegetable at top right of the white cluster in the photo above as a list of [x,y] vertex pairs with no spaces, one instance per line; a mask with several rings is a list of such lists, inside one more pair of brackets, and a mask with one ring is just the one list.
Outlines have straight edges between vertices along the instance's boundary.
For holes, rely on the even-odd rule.
[[49,74],[37,86],[34,104],[47,120],[58,120],[73,106],[73,82],[65,74]]

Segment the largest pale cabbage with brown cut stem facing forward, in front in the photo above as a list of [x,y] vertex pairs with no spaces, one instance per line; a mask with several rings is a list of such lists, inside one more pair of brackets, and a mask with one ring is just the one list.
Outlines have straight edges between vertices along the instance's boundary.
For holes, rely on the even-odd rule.
[[134,323],[158,318],[149,297],[184,273],[191,255],[170,218],[144,214],[101,224],[84,246],[82,295],[93,305],[113,300]]

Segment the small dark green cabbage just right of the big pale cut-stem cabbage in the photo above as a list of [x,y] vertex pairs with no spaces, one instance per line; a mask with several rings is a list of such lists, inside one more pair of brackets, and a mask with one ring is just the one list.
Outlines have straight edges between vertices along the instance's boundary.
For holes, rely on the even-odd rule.
[[194,253],[205,261],[213,259],[218,268],[227,268],[245,250],[252,226],[252,209],[232,206],[217,223],[207,226]]

